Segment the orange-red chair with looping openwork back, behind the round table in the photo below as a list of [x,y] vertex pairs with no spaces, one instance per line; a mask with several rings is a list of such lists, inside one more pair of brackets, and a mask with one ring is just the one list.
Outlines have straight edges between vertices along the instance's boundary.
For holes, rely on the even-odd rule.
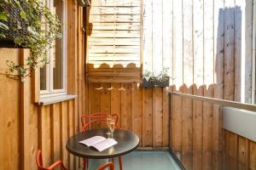
[[[90,129],[91,124],[94,122],[107,122],[107,117],[109,116],[109,113],[106,112],[96,112],[90,115],[82,115],[81,116],[81,122],[82,122],[82,131],[87,131]],[[114,117],[115,119],[115,127],[116,128],[121,128],[118,126],[118,120],[119,120],[119,116],[116,114],[112,114],[111,116]],[[112,158],[112,162],[113,162],[113,158]],[[84,170],[85,167],[87,166],[87,168],[89,167],[89,161],[88,158],[84,158]],[[122,156],[119,156],[119,169],[123,170],[123,166],[122,166]]]

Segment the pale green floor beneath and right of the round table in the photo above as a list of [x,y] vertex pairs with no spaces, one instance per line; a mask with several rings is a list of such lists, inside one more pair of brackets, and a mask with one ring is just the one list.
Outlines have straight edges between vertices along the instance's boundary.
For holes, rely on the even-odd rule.
[[[105,160],[90,160],[90,170],[96,170]],[[106,160],[107,161],[107,160]],[[115,160],[115,170],[119,163]],[[133,151],[123,156],[124,170],[180,170],[176,161],[167,151]]]

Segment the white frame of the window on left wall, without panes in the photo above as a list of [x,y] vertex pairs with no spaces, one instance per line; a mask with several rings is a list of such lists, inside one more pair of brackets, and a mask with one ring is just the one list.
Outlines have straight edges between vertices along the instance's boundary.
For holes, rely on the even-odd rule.
[[[40,90],[40,99],[49,98],[49,97],[55,97],[58,95],[65,95],[67,94],[67,0],[61,0],[63,2],[63,34],[62,34],[62,41],[63,41],[63,47],[62,47],[62,84],[63,88],[61,89],[54,89],[54,70],[53,70],[53,59],[49,57],[49,64],[46,65],[46,90]],[[46,5],[49,7],[49,9],[52,9],[54,6],[54,0],[46,0]],[[47,28],[46,28],[47,29]],[[47,54],[50,56],[52,54],[52,48],[49,48],[47,51]]]

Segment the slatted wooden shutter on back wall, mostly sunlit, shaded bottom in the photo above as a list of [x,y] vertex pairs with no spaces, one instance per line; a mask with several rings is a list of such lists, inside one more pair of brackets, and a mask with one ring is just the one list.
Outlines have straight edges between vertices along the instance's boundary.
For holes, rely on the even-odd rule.
[[88,42],[89,82],[140,82],[140,0],[93,0]]

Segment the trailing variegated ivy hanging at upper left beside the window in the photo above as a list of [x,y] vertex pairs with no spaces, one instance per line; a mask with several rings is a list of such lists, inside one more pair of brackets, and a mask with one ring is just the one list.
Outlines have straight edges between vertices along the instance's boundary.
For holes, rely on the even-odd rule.
[[[42,29],[45,26],[47,29]],[[6,61],[9,77],[24,81],[35,68],[44,67],[49,60],[47,49],[56,38],[61,38],[60,32],[60,21],[40,1],[0,0],[0,39],[31,50],[26,65]]]

